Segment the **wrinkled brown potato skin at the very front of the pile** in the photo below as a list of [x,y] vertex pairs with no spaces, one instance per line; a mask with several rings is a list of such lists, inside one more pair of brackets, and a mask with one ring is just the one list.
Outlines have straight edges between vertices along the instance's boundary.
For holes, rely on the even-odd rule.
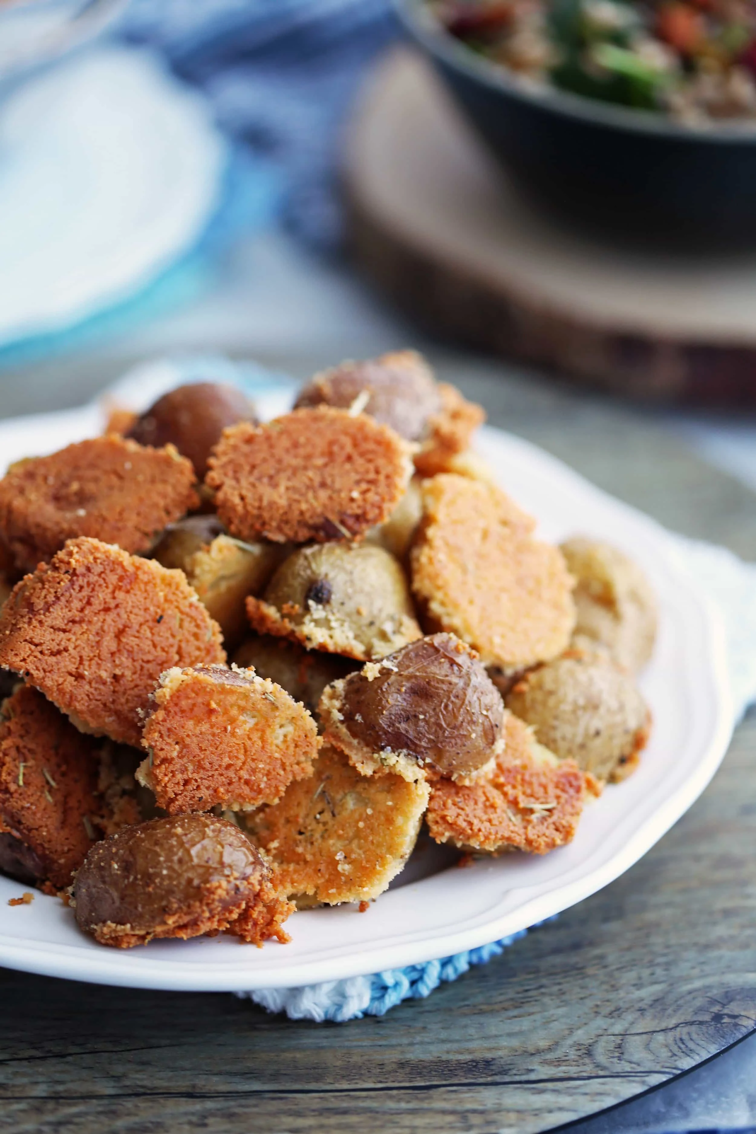
[[227,928],[269,875],[235,823],[206,814],[153,819],[92,847],[74,882],[76,921],[120,948],[197,937]]

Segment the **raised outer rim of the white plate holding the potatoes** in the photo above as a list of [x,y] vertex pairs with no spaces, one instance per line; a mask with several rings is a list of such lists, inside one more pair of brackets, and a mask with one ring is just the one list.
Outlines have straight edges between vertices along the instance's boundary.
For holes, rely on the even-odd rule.
[[[279,397],[279,395],[277,395]],[[91,423],[92,406],[80,407],[82,421]],[[37,416],[37,415],[32,415]],[[76,421],[76,412],[39,415],[50,421],[66,417]],[[0,421],[0,440],[6,430],[12,429],[16,418]],[[32,417],[25,418],[31,424]],[[576,869],[577,878],[558,883],[544,894],[538,894],[513,911],[498,916],[476,919],[475,924],[462,924],[447,930],[438,947],[426,938],[399,941],[394,945],[377,945],[362,950],[356,956],[325,956],[314,959],[298,959],[289,966],[270,967],[267,972],[254,972],[241,965],[223,964],[214,968],[212,960],[161,959],[159,951],[101,949],[94,951],[87,942],[57,945],[35,942],[0,933],[0,964],[18,971],[40,975],[102,983],[114,987],[162,989],[165,991],[252,991],[263,988],[298,988],[325,980],[341,980],[367,976],[379,971],[422,964],[456,953],[478,948],[498,941],[554,916],[572,905],[610,885],[629,870],[670,830],[704,792],[720,767],[734,727],[732,700],[727,666],[725,637],[722,617],[713,601],[690,576],[681,561],[674,538],[655,519],[645,513],[611,496],[593,484],[581,474],[570,468],[558,457],[538,446],[495,426],[482,430],[484,447],[486,441],[503,441],[525,462],[535,462],[552,477],[571,483],[583,494],[591,494],[603,507],[631,517],[635,525],[644,527],[654,544],[655,553],[665,569],[685,581],[688,599],[695,603],[699,616],[699,632],[706,640],[703,667],[706,665],[707,684],[712,692],[712,727],[708,743],[699,756],[691,775],[686,777],[669,798],[665,798],[649,815],[640,821],[637,830],[608,861],[586,870],[581,864]],[[348,908],[348,907],[347,907]],[[277,948],[273,946],[273,948]],[[381,960],[376,954],[388,955]],[[371,959],[373,957],[374,959]],[[362,958],[362,959],[360,959]]]

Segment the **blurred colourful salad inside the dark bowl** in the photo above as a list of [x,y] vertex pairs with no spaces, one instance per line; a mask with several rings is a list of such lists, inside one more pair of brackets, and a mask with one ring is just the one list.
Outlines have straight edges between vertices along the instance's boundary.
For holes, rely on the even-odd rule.
[[753,0],[428,0],[472,51],[529,83],[693,125],[756,118]]

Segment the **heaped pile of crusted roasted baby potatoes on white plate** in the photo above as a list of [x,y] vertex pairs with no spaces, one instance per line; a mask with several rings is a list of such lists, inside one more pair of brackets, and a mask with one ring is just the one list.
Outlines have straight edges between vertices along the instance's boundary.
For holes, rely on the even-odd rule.
[[648,734],[635,564],[537,539],[413,352],[262,425],[188,389],[0,481],[0,870],[102,945],[262,945],[365,909],[424,823],[568,843]]

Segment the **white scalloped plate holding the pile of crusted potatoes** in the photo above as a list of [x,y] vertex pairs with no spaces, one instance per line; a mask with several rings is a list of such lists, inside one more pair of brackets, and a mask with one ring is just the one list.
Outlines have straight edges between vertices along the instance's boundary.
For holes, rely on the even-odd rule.
[[[278,412],[280,397],[266,399]],[[95,407],[0,423],[0,468],[92,434]],[[374,973],[485,945],[557,914],[606,886],[683,814],[719,767],[732,711],[719,618],[653,521],[594,488],[553,457],[495,429],[481,451],[501,484],[558,540],[580,532],[630,552],[648,573],[661,608],[660,636],[642,686],[654,730],[638,771],[585,811],[575,840],[544,857],[520,854],[447,869],[355,906],[295,914],[292,941],[263,949],[231,938],[154,941],[108,949],[79,933],[57,898],[0,879],[0,964],[105,984],[224,991],[295,987]]]

